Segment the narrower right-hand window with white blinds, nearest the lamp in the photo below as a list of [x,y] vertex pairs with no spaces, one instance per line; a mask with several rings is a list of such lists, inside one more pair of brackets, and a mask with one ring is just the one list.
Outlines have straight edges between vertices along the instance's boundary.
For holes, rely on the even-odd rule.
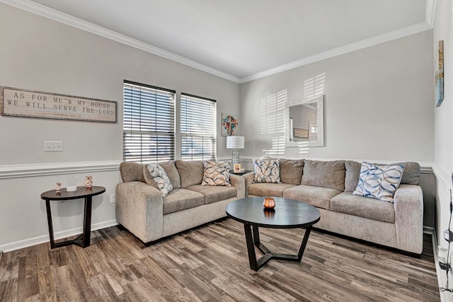
[[181,93],[181,159],[215,159],[215,125],[215,100]]

